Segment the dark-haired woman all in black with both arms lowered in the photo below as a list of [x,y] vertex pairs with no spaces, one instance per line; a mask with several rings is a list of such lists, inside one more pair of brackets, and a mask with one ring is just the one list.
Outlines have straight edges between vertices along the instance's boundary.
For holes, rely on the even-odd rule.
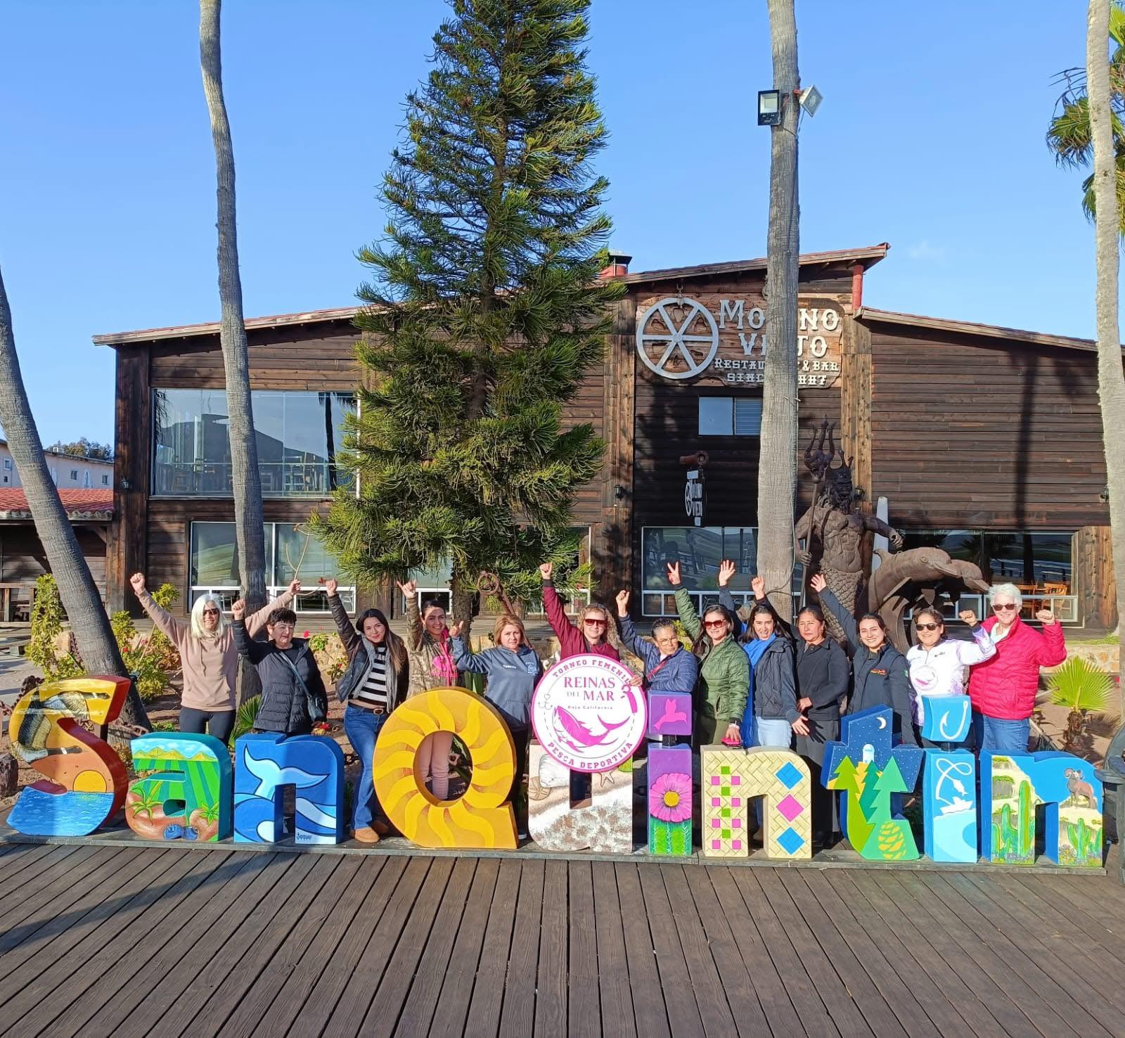
[[825,615],[819,606],[806,606],[796,615],[796,701],[809,726],[796,736],[796,752],[809,763],[812,776],[812,838],[821,847],[831,843],[837,830],[836,797],[820,781],[825,744],[840,737],[840,703],[847,695],[850,666],[839,644],[825,636]]

